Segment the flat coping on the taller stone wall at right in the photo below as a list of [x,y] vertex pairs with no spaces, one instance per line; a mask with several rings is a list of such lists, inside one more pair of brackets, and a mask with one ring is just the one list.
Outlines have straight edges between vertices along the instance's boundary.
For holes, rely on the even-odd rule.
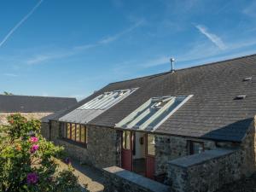
[[218,159],[219,157],[235,153],[237,148],[218,148],[214,150],[207,150],[201,154],[192,154],[189,156],[181,157],[171,160],[168,163],[172,166],[180,166],[188,168],[189,166],[196,166],[206,162],[207,160]]

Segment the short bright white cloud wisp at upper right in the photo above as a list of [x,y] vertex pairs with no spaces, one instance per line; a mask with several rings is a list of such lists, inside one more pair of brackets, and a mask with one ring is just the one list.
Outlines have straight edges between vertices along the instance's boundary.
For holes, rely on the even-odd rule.
[[212,41],[212,44],[215,44],[216,46],[218,46],[219,49],[226,49],[226,45],[224,44],[222,39],[219,38],[217,35],[215,35],[215,34],[213,34],[211,32],[208,32],[206,26],[196,25],[195,27],[199,30],[199,32],[201,32],[210,41]]

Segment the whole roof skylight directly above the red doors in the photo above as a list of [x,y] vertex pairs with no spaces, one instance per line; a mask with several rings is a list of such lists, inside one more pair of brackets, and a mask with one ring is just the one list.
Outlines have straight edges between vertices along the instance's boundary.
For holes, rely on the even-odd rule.
[[154,131],[172,113],[175,113],[190,96],[160,96],[153,97],[141,107],[121,120],[116,127],[133,130]]

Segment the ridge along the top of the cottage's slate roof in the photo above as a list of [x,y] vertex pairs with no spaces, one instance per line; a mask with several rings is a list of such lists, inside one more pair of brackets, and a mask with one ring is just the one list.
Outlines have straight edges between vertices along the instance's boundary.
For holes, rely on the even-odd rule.
[[[225,60],[220,60],[220,61],[207,62],[207,63],[197,65],[197,66],[193,66],[193,67],[180,68],[180,69],[175,70],[175,72],[182,71],[182,70],[187,70],[187,69],[191,69],[191,68],[206,67],[206,66],[209,66],[209,65],[216,65],[216,64],[219,64],[221,62],[235,61],[235,60],[239,60],[239,59],[243,59],[243,58],[247,58],[247,57],[251,57],[251,56],[256,56],[256,54],[243,55],[243,56],[238,56],[238,57],[235,57],[235,58],[230,58],[230,59],[225,59]],[[143,78],[151,78],[151,77],[155,77],[155,76],[164,75],[164,74],[167,74],[167,73],[172,73],[172,72],[168,71],[168,72],[163,72],[163,73],[155,73],[155,74],[146,75],[146,76],[138,77],[138,78],[134,78],[134,79],[126,79],[126,80],[115,81],[115,82],[110,83],[110,84],[118,84],[118,83],[122,83],[122,82],[125,82],[125,81],[132,81],[132,80],[143,79]]]

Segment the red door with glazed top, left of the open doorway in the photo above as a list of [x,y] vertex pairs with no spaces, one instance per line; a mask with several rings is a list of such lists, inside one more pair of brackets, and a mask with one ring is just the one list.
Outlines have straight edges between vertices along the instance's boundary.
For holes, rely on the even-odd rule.
[[122,132],[121,166],[125,170],[132,171],[131,131],[123,131]]

